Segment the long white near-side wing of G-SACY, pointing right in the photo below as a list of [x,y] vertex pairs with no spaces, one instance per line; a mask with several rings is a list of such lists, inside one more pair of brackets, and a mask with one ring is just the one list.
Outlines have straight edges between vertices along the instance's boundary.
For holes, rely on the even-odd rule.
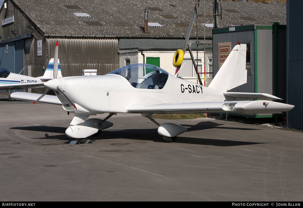
[[176,104],[135,104],[131,113],[281,113],[294,106],[273,101],[194,102]]

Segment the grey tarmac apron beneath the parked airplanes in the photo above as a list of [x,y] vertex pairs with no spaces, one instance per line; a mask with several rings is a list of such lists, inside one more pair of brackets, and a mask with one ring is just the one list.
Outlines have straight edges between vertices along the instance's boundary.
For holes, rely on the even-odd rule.
[[[214,119],[118,114],[92,144],[69,145],[62,106],[0,93],[0,201],[302,201],[303,133]],[[105,118],[107,115],[92,116]]]

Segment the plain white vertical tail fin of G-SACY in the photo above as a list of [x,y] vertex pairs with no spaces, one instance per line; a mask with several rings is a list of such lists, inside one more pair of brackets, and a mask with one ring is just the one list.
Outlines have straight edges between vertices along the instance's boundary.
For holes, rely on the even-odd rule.
[[239,44],[231,50],[231,53],[208,87],[226,92],[245,84],[246,81],[246,44]]

